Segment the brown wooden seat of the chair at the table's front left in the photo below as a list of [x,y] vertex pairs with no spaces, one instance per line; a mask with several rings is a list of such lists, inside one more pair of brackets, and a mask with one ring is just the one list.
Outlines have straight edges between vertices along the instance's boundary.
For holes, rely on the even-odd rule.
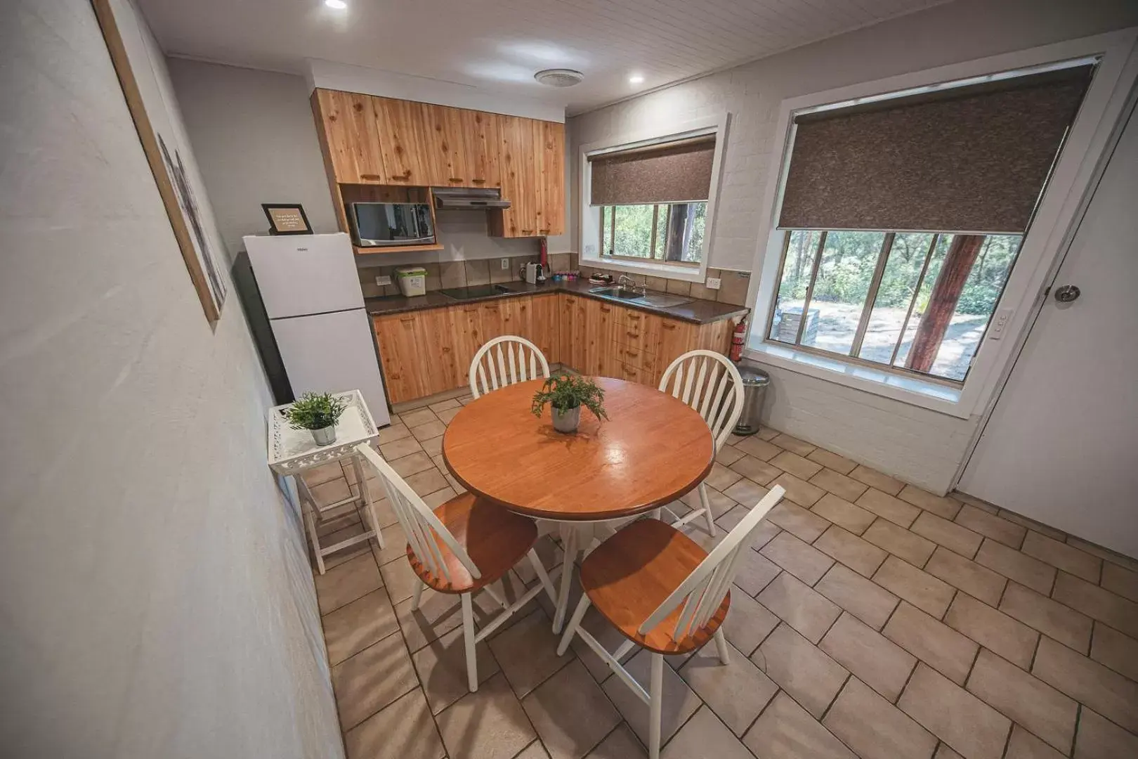
[[506,511],[470,493],[457,495],[434,510],[439,521],[454,535],[473,560],[481,577],[473,578],[459,558],[442,541],[436,541],[451,580],[437,577],[407,545],[407,559],[420,579],[439,593],[472,593],[497,581],[534,547],[537,525],[531,519]]

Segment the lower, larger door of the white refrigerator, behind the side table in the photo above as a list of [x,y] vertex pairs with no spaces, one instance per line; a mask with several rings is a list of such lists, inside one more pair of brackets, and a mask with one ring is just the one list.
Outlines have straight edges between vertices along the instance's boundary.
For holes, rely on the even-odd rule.
[[358,389],[376,423],[390,423],[371,320],[363,308],[274,319],[272,325],[297,396]]

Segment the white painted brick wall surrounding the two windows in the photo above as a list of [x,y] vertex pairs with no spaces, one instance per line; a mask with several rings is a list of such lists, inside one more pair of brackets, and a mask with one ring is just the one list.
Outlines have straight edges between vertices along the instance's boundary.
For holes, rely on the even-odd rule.
[[[727,152],[709,265],[761,271],[762,195],[777,171],[775,134],[785,98],[874,81],[1138,24],[1128,0],[959,0],[641,96],[569,119],[574,245],[579,222],[580,145],[723,112]],[[904,480],[947,489],[979,419],[959,420],[844,386],[770,369],[773,426],[850,455]]]

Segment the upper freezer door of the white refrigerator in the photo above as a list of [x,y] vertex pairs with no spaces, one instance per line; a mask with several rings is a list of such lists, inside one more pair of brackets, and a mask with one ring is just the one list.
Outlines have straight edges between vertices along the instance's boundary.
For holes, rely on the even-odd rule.
[[270,319],[363,307],[352,239],[344,232],[250,234],[245,249]]

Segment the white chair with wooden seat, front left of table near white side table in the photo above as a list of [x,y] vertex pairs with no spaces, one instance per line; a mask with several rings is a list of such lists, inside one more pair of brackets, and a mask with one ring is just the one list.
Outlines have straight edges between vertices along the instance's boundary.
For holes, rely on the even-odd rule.
[[[419,599],[427,586],[439,593],[462,596],[467,680],[471,692],[477,691],[475,644],[497,629],[543,588],[556,603],[553,584],[534,550],[536,525],[531,519],[469,493],[455,496],[431,511],[374,448],[358,445],[356,451],[379,473],[379,480],[387,489],[387,497],[406,534],[407,560],[420,580],[411,608],[419,608]],[[539,581],[510,605],[489,586],[523,556],[528,556]],[[476,632],[472,599],[478,591],[486,591],[504,611]]]

